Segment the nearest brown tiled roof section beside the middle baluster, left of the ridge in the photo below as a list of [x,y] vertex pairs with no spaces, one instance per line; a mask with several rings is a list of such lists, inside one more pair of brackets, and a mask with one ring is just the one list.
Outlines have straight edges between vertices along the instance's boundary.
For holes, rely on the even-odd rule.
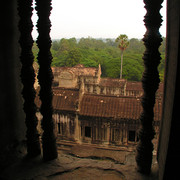
[[[76,111],[79,100],[77,89],[53,88],[53,108],[61,111]],[[37,96],[35,102],[40,107],[41,101]]]

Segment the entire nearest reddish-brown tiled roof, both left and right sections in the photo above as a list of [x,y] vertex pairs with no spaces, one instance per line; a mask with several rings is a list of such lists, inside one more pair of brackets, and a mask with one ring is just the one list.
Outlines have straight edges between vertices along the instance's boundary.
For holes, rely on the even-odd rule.
[[[78,109],[79,90],[67,88],[53,88],[53,108],[58,111],[73,111]],[[37,96],[35,102],[38,107],[41,101]],[[142,112],[141,99],[130,96],[107,96],[84,94],[80,102],[79,114],[82,116],[134,119],[137,120]],[[162,100],[156,100],[154,120],[161,120]]]

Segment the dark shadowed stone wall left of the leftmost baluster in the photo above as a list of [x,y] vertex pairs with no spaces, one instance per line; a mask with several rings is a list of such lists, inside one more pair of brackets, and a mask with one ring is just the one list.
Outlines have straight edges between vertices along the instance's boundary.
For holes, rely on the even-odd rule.
[[[3,1],[0,34],[0,170],[23,154],[25,116],[21,96],[17,1]],[[2,165],[2,166],[1,166]]]

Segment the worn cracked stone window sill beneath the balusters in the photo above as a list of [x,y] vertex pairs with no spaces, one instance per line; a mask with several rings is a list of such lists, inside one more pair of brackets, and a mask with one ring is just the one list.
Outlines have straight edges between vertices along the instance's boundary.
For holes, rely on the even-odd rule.
[[[92,152],[91,152],[92,150]],[[39,156],[34,159],[24,159],[7,168],[0,179],[5,180],[59,180],[59,179],[126,179],[126,180],[156,180],[157,164],[153,161],[152,173],[143,176],[135,168],[134,152],[109,151],[83,146],[72,148],[71,153],[58,154],[58,159],[44,162]],[[91,153],[93,157],[91,157]],[[79,154],[79,155],[78,155]],[[83,155],[80,157],[80,154]],[[118,157],[121,162],[118,162]],[[111,159],[110,159],[111,156]],[[123,163],[122,163],[123,160]]]

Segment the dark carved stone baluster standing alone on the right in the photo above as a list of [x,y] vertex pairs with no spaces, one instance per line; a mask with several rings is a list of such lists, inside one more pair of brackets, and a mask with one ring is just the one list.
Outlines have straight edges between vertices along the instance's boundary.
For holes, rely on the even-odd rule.
[[149,174],[151,172],[152,151],[154,138],[153,107],[155,104],[155,93],[159,86],[158,65],[161,57],[159,53],[159,46],[162,38],[159,33],[161,26],[160,9],[163,0],[144,0],[147,14],[145,15],[146,33],[143,41],[146,47],[143,60],[145,70],[142,77],[142,86],[144,94],[142,97],[143,112],[141,114],[141,128],[139,130],[139,143],[137,145],[136,162],[138,170],[142,173]]

